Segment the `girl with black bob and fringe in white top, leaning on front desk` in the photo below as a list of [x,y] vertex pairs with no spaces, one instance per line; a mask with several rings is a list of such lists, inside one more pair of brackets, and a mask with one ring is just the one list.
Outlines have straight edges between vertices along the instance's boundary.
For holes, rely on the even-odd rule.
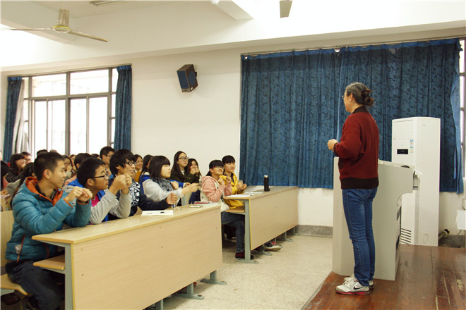
[[196,192],[198,189],[198,183],[179,188],[177,182],[170,182],[170,161],[162,155],[153,156],[150,160],[149,173],[150,179],[143,182],[143,187],[144,194],[153,202],[160,202],[160,200],[167,198],[171,192],[175,192],[177,197],[181,198],[187,192]]

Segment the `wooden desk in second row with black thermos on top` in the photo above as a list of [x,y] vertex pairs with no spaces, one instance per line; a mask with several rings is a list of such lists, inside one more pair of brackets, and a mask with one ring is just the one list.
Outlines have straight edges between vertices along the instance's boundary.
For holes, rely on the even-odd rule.
[[242,213],[245,216],[245,261],[251,260],[251,249],[298,225],[298,187],[273,186],[270,192],[225,199],[244,202],[244,210],[237,208],[227,212]]

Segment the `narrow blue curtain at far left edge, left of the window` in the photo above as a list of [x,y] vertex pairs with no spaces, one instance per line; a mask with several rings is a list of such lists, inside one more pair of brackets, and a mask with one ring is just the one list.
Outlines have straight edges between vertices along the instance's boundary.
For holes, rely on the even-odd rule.
[[6,117],[4,133],[4,160],[9,161],[13,152],[13,132],[15,131],[16,109],[20,97],[23,77],[8,77],[8,90],[6,94]]

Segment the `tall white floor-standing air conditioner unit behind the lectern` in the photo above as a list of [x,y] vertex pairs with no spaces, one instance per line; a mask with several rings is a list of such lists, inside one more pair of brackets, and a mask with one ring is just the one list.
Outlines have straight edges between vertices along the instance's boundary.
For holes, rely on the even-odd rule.
[[413,166],[419,175],[418,190],[402,196],[400,242],[437,246],[440,119],[392,120],[392,161]]

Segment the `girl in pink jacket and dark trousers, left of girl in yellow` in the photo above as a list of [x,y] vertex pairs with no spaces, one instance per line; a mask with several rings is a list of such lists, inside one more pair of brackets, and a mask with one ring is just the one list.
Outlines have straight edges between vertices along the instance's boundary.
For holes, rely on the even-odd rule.
[[[225,212],[229,206],[223,201],[223,197],[232,194],[232,180],[227,177],[227,182],[220,178],[223,174],[222,161],[215,160],[209,163],[209,172],[202,177],[201,201],[203,202],[220,202],[222,224],[229,224],[236,228],[237,234],[237,253],[234,255],[237,259],[244,259],[244,216],[237,213]],[[254,256],[251,255],[251,259]]]

